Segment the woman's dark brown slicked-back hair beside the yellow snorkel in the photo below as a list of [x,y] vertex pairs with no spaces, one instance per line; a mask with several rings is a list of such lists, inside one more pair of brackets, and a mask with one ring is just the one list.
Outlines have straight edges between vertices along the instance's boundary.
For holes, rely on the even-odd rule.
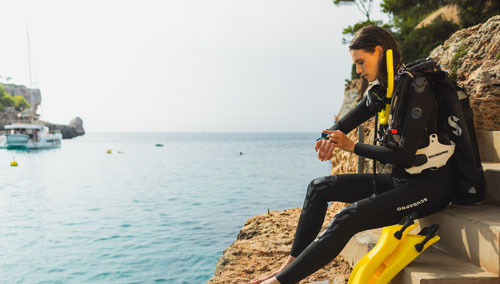
[[349,49],[363,49],[367,52],[374,52],[377,45],[382,46],[382,49],[384,50],[382,60],[379,62],[378,66],[378,80],[379,83],[385,87],[387,86],[385,52],[388,49],[392,49],[395,73],[401,63],[401,56],[399,55],[398,47],[396,46],[396,42],[392,38],[391,34],[384,28],[378,26],[371,25],[363,27],[354,35],[354,38],[349,45]]

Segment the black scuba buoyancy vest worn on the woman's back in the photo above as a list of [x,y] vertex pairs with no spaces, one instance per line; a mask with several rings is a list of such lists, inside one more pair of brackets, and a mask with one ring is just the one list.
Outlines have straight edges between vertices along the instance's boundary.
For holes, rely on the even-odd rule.
[[385,126],[382,125],[378,131],[378,140],[389,148],[398,147],[400,116],[404,108],[402,106],[406,87],[418,76],[424,76],[431,82],[436,95],[438,113],[434,119],[435,129],[440,137],[444,135],[446,140],[455,144],[451,156],[454,190],[452,203],[460,205],[477,203],[484,199],[485,181],[469,96],[431,58],[401,65],[395,77],[394,95],[390,100],[391,121]]

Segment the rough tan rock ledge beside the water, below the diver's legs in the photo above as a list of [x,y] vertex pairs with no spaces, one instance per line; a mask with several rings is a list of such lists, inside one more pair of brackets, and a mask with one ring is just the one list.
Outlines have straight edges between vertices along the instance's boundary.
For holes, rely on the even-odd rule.
[[[344,203],[330,205],[323,227],[344,206]],[[269,211],[249,218],[238,233],[237,240],[224,250],[215,268],[214,277],[207,284],[250,283],[251,279],[278,269],[290,252],[300,212],[301,208],[293,208],[281,212]],[[347,283],[350,272],[349,264],[338,256],[299,283],[329,279],[335,279],[335,283]]]

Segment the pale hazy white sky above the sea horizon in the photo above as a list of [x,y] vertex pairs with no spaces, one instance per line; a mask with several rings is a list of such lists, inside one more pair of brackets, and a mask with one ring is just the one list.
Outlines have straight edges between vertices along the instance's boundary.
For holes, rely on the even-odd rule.
[[320,132],[350,77],[342,29],[364,19],[332,0],[0,3],[0,82],[30,85],[29,30],[42,120],[89,133]]

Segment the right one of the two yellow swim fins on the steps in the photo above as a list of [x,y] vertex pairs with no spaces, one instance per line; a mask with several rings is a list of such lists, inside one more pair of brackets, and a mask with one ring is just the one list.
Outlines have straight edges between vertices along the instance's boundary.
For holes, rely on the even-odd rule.
[[389,255],[371,275],[367,284],[386,284],[391,281],[396,274],[412,262],[429,246],[439,241],[436,232],[438,224],[423,228],[417,235],[408,234],[396,250]]

